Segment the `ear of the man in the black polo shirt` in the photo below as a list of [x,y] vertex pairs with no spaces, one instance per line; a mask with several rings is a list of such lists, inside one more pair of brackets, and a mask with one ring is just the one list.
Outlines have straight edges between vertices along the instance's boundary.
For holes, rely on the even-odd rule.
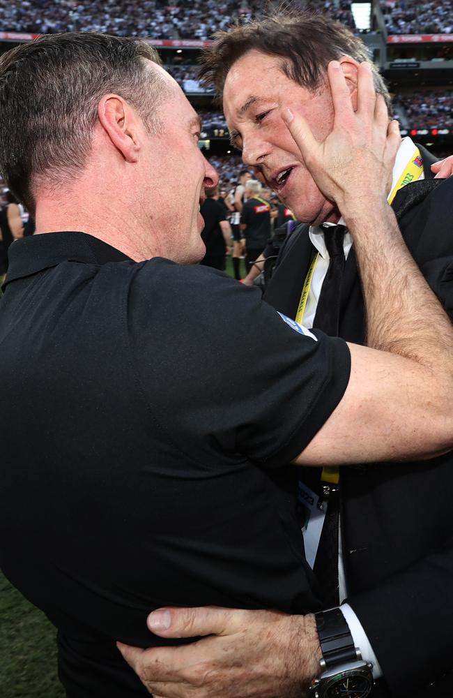
[[128,163],[136,163],[140,150],[139,119],[117,94],[106,94],[98,104],[98,119],[105,135]]

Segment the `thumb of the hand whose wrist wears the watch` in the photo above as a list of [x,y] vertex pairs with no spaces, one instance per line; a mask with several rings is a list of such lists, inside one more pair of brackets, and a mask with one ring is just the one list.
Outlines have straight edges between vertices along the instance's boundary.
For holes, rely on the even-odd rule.
[[158,609],[149,614],[147,625],[160,637],[231,634],[244,623],[245,614],[247,611],[212,606]]

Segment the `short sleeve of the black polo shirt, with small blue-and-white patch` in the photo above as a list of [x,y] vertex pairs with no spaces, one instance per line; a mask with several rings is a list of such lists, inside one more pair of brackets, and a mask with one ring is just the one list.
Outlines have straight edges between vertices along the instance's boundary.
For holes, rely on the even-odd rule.
[[153,419],[198,461],[242,454],[263,468],[283,466],[348,384],[343,340],[302,334],[259,290],[208,267],[144,263],[128,327]]

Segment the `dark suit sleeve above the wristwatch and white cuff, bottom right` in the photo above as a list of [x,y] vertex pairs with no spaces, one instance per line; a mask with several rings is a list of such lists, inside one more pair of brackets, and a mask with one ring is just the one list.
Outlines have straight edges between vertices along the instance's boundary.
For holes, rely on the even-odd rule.
[[403,698],[417,691],[423,695],[424,686],[428,689],[434,682],[436,689],[443,674],[453,670],[452,585],[450,537],[438,551],[392,575],[378,588],[348,598],[392,696]]

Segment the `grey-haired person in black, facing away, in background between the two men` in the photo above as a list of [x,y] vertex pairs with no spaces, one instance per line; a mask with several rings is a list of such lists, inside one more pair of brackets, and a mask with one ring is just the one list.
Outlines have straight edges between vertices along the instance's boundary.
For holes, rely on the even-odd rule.
[[247,201],[240,214],[240,230],[245,237],[247,273],[270,238],[270,204],[260,196],[261,188],[261,182],[256,179],[245,183]]

